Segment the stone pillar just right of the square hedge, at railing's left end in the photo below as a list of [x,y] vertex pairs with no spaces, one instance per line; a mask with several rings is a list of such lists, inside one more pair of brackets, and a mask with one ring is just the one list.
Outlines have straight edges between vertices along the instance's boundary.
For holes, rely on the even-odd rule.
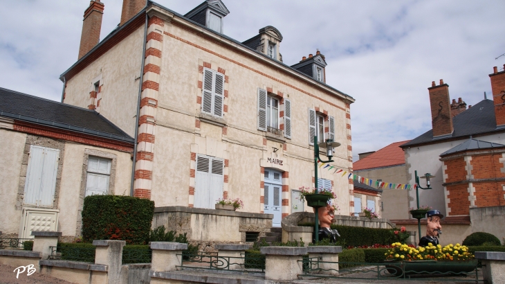
[[154,272],[167,272],[177,270],[182,264],[183,250],[187,249],[187,244],[179,242],[150,242],[153,251],[151,270]]

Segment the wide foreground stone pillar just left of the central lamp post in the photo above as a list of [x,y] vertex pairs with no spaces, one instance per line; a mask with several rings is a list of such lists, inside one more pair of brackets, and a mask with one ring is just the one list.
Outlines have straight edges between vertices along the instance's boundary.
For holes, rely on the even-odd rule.
[[266,255],[265,279],[273,281],[293,281],[302,274],[302,255],[306,247],[261,247]]

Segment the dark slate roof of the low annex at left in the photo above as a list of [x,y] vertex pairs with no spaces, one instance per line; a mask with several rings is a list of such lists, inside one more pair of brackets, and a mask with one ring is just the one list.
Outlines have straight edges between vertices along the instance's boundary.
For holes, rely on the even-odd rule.
[[91,109],[74,107],[53,100],[0,87],[0,116],[64,130],[83,132],[125,142],[134,142],[119,127]]

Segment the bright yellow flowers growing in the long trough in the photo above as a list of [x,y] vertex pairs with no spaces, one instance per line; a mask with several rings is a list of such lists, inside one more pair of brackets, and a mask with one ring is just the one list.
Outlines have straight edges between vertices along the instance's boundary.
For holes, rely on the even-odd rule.
[[468,247],[459,244],[432,245],[428,243],[426,247],[410,247],[395,242],[393,248],[385,253],[387,260],[470,260],[475,258],[468,252]]

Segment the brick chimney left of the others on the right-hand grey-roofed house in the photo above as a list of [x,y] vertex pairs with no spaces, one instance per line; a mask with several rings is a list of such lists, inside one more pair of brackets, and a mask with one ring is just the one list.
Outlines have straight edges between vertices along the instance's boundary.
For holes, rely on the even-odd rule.
[[449,99],[449,85],[440,80],[440,85],[432,82],[430,92],[430,106],[432,109],[433,137],[452,134],[452,117]]

